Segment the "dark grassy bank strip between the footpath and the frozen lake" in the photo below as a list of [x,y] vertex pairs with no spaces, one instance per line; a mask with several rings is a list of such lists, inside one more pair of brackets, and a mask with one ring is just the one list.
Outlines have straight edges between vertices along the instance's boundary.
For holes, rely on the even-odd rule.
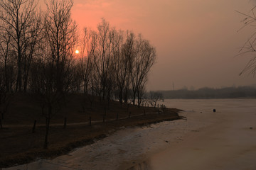
[[[178,109],[169,109],[166,113],[151,113],[135,115],[131,118],[106,121],[105,123],[75,123],[67,125],[53,124],[50,128],[49,147],[43,149],[43,126],[31,132],[29,126],[9,126],[1,130],[0,167],[14,166],[15,164],[28,164],[38,158],[53,159],[54,157],[68,154],[77,147],[91,145],[102,140],[120,128],[134,128],[159,123],[166,120],[176,120]],[[8,126],[7,126],[8,127]]]

